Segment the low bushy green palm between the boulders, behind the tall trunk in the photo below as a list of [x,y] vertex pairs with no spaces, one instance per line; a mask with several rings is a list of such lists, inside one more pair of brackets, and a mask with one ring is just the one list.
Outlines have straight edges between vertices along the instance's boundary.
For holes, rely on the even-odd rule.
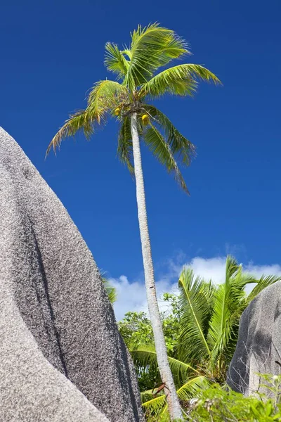
[[[178,281],[179,340],[176,354],[169,357],[171,371],[181,404],[196,397],[210,383],[225,383],[226,371],[235,351],[240,316],[263,288],[280,281],[280,276],[262,276],[257,280],[244,273],[242,265],[228,256],[226,278],[219,286],[195,277],[184,269]],[[245,288],[256,283],[247,295]],[[131,349],[138,375],[155,376],[157,359],[154,345]],[[159,392],[142,392],[143,407],[151,420],[166,421],[166,399]]]

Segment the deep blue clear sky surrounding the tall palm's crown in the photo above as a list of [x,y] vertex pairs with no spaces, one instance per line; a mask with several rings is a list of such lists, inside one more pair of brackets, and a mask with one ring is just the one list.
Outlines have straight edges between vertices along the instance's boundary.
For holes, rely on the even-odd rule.
[[0,124],[24,149],[79,227],[98,266],[141,279],[135,186],[117,160],[117,124],[90,143],[65,141],[44,161],[68,113],[109,77],[106,41],[129,42],[158,21],[190,42],[192,63],[223,87],[158,106],[197,146],[183,171],[191,196],[143,148],[152,252],[169,263],[233,252],[256,265],[280,262],[281,3],[263,1],[11,1],[1,5]]

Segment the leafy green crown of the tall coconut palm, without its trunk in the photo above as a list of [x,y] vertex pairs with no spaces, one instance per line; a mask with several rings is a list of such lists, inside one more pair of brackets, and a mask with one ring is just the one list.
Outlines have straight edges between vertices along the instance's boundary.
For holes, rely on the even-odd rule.
[[[105,79],[93,85],[86,109],[70,115],[54,136],[47,153],[52,147],[56,150],[63,139],[80,130],[89,139],[96,126],[112,116],[120,122],[117,153],[133,174],[130,115],[135,112],[141,139],[188,192],[177,162],[189,165],[195,147],[166,115],[147,101],[164,94],[192,96],[200,79],[220,83],[214,73],[201,65],[188,63],[166,68],[171,60],[189,54],[188,44],[183,39],[157,23],[138,26],[131,34],[129,48],[119,50],[116,44],[107,43],[105,66],[117,80]],[[159,72],[159,68],[164,70]]]

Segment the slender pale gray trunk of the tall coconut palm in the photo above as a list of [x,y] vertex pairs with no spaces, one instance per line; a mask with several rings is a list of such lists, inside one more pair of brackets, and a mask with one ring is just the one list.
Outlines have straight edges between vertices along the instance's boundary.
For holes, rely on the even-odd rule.
[[143,252],[143,267],[145,271],[145,288],[148,298],[148,311],[150,314],[152,331],[155,340],[155,350],[162,383],[165,384],[164,392],[168,403],[171,420],[182,417],[181,406],[176,395],[173,376],[168,361],[162,321],[156,295],[154,269],[152,263],[150,236],[148,232],[148,217],[145,205],[145,188],[143,184],[143,169],[141,165],[141,148],[138,136],[137,114],[131,115],[131,136],[133,141],[133,162],[136,177],[136,200],[138,204],[138,223],[141,232],[141,248]]

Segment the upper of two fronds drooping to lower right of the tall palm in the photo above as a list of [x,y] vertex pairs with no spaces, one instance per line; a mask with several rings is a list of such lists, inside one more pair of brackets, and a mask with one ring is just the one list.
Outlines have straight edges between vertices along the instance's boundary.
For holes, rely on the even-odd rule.
[[156,107],[143,105],[143,108],[145,108],[153,122],[164,131],[166,142],[169,143],[171,153],[176,161],[180,161],[183,165],[189,165],[192,157],[195,156],[195,146],[178,132],[171,120]]

